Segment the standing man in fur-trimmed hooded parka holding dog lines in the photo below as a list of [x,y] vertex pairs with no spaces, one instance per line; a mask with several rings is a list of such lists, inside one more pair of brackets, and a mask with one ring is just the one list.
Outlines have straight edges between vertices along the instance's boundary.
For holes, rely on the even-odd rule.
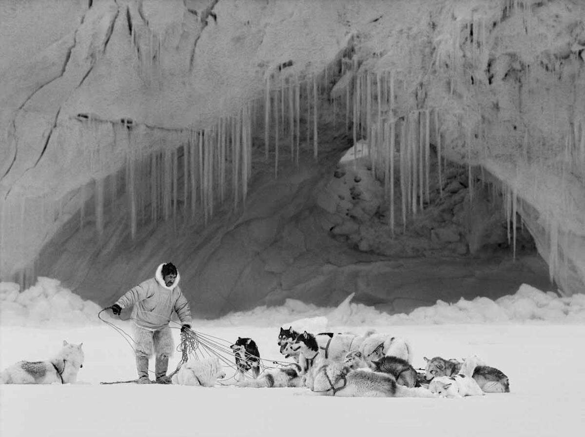
[[159,384],[170,384],[168,378],[168,357],[173,355],[174,345],[168,322],[173,311],[177,312],[183,325],[181,332],[191,328],[191,309],[185,299],[179,280],[177,267],[172,263],[160,264],[154,278],[150,278],[136,287],[130,288],[112,305],[113,314],[120,314],[122,308],[134,304],[132,319],[134,321],[134,352],[136,353],[136,370],[138,383],[151,383],[148,376],[150,356],[156,356],[155,375]]

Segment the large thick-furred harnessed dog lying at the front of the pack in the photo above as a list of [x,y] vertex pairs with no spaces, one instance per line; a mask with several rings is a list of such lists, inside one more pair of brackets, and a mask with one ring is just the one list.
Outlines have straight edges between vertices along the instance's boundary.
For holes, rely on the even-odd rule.
[[391,374],[361,369],[364,363],[362,353],[355,351],[348,354],[343,363],[322,364],[314,371],[312,386],[309,388],[325,396],[437,397],[426,388],[400,386]]

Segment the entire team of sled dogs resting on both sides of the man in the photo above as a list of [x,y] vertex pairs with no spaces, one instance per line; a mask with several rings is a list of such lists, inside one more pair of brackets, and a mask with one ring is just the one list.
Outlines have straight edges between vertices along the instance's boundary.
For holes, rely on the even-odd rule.
[[[294,363],[260,374],[260,353],[254,340],[238,338],[231,346],[240,387],[308,387],[315,394],[346,397],[463,397],[510,391],[508,377],[485,366],[477,356],[462,362],[424,358],[419,374],[411,364],[404,339],[374,332],[298,333],[280,328],[280,353]],[[53,359],[20,361],[0,373],[1,384],[75,383],[83,367],[81,344],[63,342]],[[253,378],[246,378],[250,372]],[[225,377],[218,357],[189,360],[172,377],[173,384],[213,387]]]

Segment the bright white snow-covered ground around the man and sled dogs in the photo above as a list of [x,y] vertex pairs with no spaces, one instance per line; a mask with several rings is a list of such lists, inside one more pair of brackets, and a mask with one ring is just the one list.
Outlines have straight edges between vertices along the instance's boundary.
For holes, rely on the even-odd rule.
[[[0,326],[0,368],[18,360],[48,359],[64,339],[83,342],[85,362],[78,384],[0,386],[0,435],[581,435],[585,424],[583,297],[553,297],[523,286],[502,299],[491,304],[484,300],[439,302],[400,317],[376,314],[349,300],[338,308],[290,301],[285,307],[194,322],[197,331],[230,341],[251,337],[261,356],[270,359],[281,359],[276,343],[281,325],[355,333],[374,326],[378,332],[407,338],[414,349],[415,367],[423,366],[423,356],[477,354],[510,378],[511,393],[459,400],[319,397],[304,388],[104,386],[99,382],[135,378],[133,351],[109,326],[91,321],[69,327],[63,321],[23,326],[12,319],[11,324]],[[491,308],[481,314],[508,316],[480,316],[477,308]],[[130,332],[130,322],[116,324]],[[178,342],[178,329],[174,336]],[[177,354],[170,369],[178,359]],[[231,374],[228,371],[228,377]]]

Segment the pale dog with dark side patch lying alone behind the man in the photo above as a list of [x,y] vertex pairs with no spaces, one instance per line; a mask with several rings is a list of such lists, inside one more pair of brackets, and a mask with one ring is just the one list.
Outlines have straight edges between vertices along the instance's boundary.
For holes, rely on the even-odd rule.
[[0,384],[75,383],[85,358],[82,344],[73,345],[63,340],[63,348],[53,359],[19,361],[0,373]]

